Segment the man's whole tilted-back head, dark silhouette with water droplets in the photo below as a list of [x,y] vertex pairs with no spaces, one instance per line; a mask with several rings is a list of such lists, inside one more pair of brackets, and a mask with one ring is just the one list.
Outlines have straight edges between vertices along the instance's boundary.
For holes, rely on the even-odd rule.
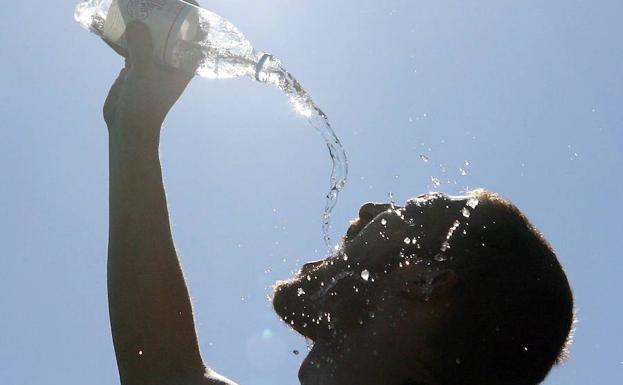
[[573,299],[511,203],[483,190],[361,207],[342,248],[275,288],[314,341],[307,384],[536,384],[564,351]]

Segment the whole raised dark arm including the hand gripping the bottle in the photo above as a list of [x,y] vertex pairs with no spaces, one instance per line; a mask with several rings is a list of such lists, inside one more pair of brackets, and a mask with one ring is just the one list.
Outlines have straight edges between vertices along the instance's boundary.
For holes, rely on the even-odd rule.
[[147,28],[126,31],[126,67],[104,106],[109,130],[108,300],[123,385],[227,383],[202,362],[169,224],[158,154],[191,76],[153,64]]

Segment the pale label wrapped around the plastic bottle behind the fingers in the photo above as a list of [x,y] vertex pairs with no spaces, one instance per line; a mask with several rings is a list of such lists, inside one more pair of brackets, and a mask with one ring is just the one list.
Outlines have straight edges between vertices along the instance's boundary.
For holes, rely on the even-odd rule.
[[197,9],[179,0],[112,0],[104,39],[127,49],[125,28],[131,21],[139,20],[149,29],[154,56],[174,65],[172,46],[184,26],[188,28],[190,20],[197,20],[191,14],[197,15]]

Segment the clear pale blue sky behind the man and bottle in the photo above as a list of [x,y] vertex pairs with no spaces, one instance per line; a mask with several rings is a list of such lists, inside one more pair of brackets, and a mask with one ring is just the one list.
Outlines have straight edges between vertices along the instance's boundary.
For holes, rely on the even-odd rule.
[[[75,4],[0,13],[3,385],[118,383],[101,108],[121,60],[73,21]],[[361,203],[437,189],[431,177],[501,193],[556,248],[577,300],[571,358],[545,383],[623,383],[623,2],[202,4],[280,57],[331,118],[351,166],[334,237]],[[266,296],[324,256],[320,137],[275,89],[196,79],[161,152],[204,357],[241,385],[296,384],[305,342]]]

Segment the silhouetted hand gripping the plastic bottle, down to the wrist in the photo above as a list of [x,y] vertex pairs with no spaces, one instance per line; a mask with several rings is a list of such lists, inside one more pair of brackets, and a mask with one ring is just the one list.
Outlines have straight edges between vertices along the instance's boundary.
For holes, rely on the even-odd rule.
[[155,63],[149,29],[143,23],[132,21],[125,33],[126,63],[106,98],[104,120],[109,130],[128,125],[159,130],[194,75]]

